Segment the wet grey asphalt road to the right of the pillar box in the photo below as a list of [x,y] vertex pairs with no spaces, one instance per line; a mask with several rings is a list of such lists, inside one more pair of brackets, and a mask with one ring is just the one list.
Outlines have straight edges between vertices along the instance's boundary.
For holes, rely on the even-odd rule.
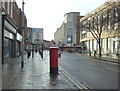
[[120,72],[115,63],[63,52],[62,57],[59,58],[59,66],[91,89],[118,89],[118,73]]

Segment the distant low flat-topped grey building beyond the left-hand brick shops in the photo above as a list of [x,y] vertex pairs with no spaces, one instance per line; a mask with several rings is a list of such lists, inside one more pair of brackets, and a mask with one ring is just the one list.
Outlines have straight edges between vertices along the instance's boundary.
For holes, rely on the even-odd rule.
[[43,28],[27,27],[25,49],[39,49],[43,44]]

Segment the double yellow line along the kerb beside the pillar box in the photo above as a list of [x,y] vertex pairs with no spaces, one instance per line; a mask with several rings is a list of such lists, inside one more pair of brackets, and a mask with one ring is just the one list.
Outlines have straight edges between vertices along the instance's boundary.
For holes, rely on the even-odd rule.
[[92,91],[90,87],[85,86],[82,82],[74,79],[70,74],[68,74],[62,67],[59,66],[59,70],[65,75],[75,86],[80,89],[80,91]]

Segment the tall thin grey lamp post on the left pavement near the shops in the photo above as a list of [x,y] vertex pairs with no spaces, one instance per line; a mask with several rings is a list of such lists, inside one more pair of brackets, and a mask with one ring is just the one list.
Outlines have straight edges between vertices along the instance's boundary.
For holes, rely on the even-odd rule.
[[21,55],[21,68],[24,67],[24,0],[22,1],[22,55]]

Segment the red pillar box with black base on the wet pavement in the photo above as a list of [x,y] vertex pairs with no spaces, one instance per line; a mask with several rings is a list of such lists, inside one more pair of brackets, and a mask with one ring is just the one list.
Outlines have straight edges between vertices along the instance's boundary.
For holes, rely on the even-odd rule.
[[58,74],[58,47],[50,47],[50,74]]

